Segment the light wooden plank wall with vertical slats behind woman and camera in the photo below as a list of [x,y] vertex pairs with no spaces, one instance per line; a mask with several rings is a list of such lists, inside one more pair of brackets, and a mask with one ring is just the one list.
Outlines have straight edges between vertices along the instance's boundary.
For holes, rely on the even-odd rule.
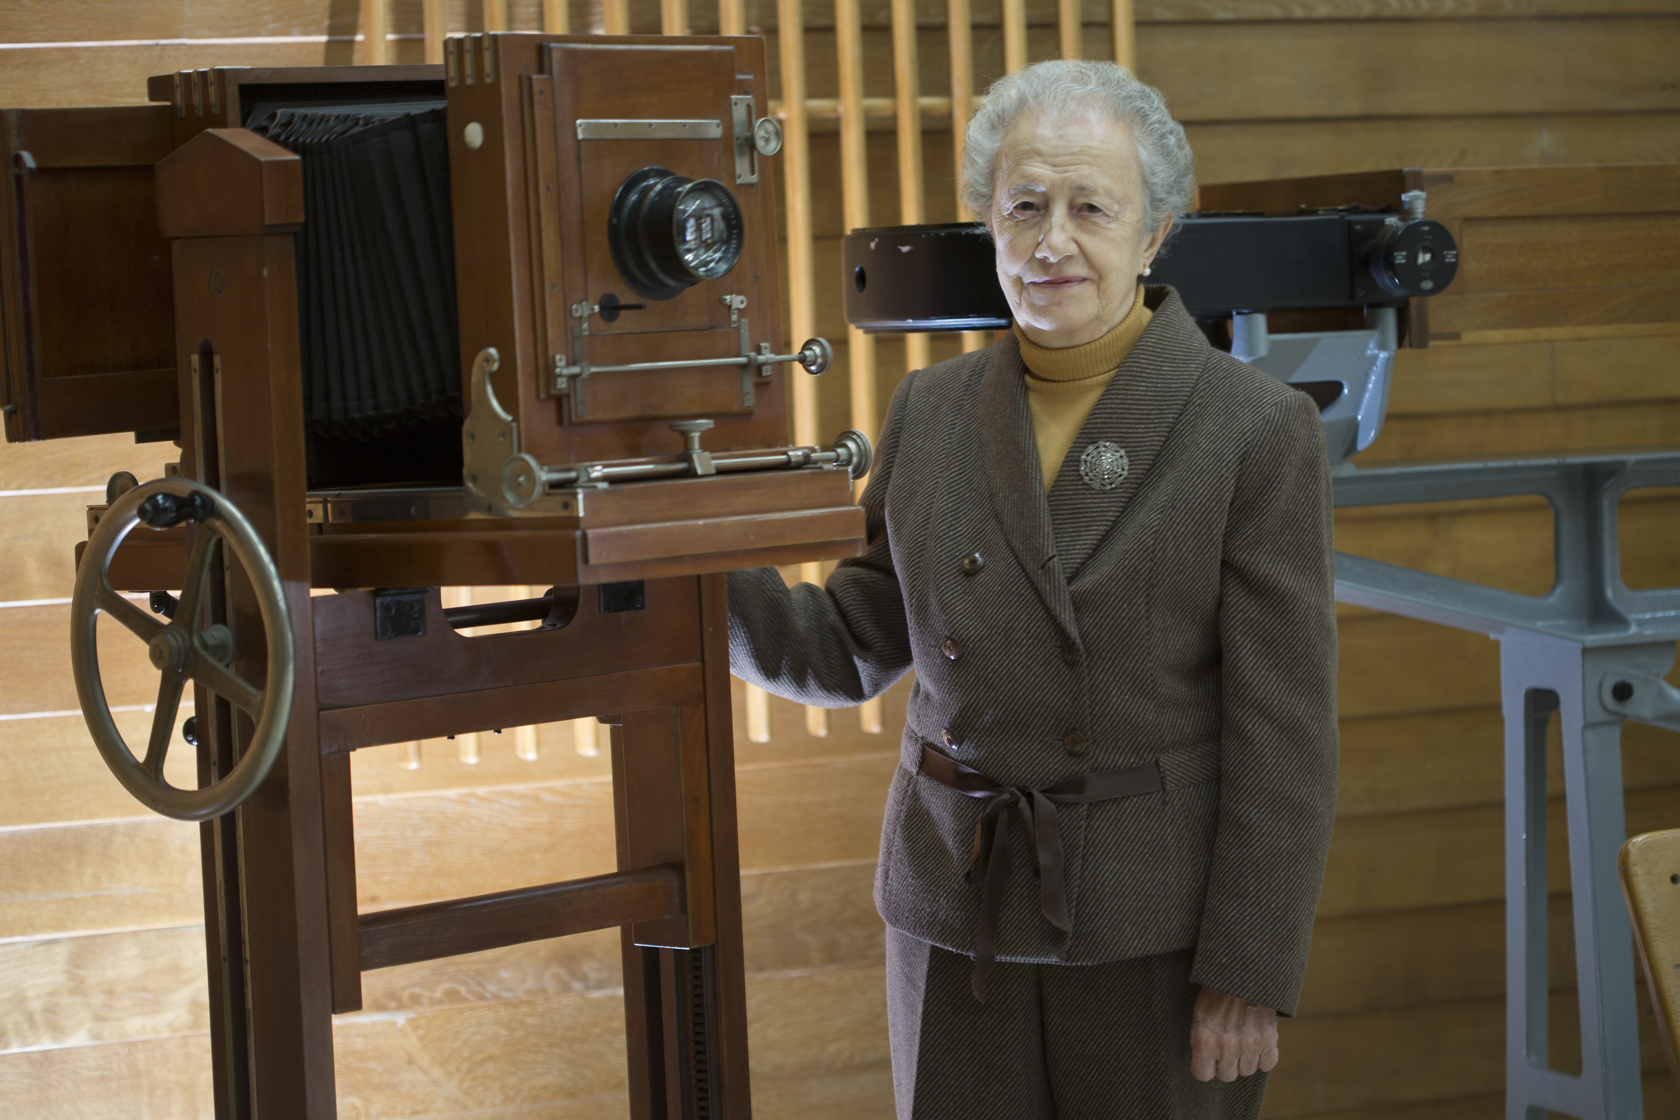
[[[914,7],[914,52],[895,62],[892,10]],[[1677,0],[1136,0],[1136,29],[1105,0],[1063,34],[1058,0],[860,0],[858,62],[879,223],[904,200],[894,72],[914,54],[921,102],[922,215],[954,220],[948,13],[966,13],[976,89],[1013,62],[1134,49],[1141,74],[1186,121],[1205,181],[1393,166],[1487,166],[1680,160]],[[803,57],[806,126],[788,114],[783,160],[808,168],[790,200],[795,277],[790,332],[845,339],[838,237],[845,228],[842,94],[830,0],[748,0],[749,32],[774,39],[778,10],[801,18],[798,44],[771,44],[773,69]],[[393,0],[386,59],[425,55],[427,25],[655,32],[674,0]],[[1018,15],[1016,15],[1018,13]],[[148,74],[213,64],[349,62],[358,3],[343,0],[0,0],[12,42],[148,40],[0,50],[0,104],[143,99]],[[696,32],[712,3],[689,3]],[[1015,18],[1008,18],[1015,17]],[[267,37],[265,42],[254,42]],[[156,44],[156,40],[235,40]],[[1011,50],[1013,47],[1013,50]],[[963,92],[963,91],[959,91]],[[780,77],[773,84],[780,96]],[[961,99],[959,99],[961,101]],[[959,109],[961,111],[961,109]],[[795,138],[798,133],[798,139]],[[806,149],[808,160],[798,153]],[[805,215],[803,218],[800,215]],[[801,230],[800,222],[805,222]],[[805,238],[810,238],[808,242]],[[1672,249],[1670,249],[1672,252]],[[803,269],[801,269],[803,272]],[[800,309],[805,309],[803,312]],[[798,339],[795,339],[798,341]],[[1672,336],[1436,346],[1401,354],[1391,420],[1371,458],[1468,457],[1680,443]],[[931,339],[932,359],[958,353]],[[848,354],[801,410],[801,438],[852,427]],[[904,371],[906,348],[877,348],[875,408]],[[862,395],[860,395],[862,396]],[[860,418],[870,430],[879,416]],[[81,507],[119,468],[156,477],[166,445],[118,438],[0,448],[0,1100],[30,1117],[208,1117],[208,1041],[193,830],[144,816],[97,761],[66,677],[69,549]],[[62,492],[82,489],[82,492]],[[52,492],[42,492],[52,490]],[[1625,507],[1628,581],[1680,581],[1680,499]],[[1551,569],[1549,514],[1525,502],[1354,510],[1341,546],[1524,591]],[[45,601],[42,601],[45,599]],[[1342,791],[1305,1001],[1285,1024],[1268,1117],[1497,1117],[1502,1113],[1504,935],[1497,648],[1453,631],[1342,611]],[[121,635],[113,635],[121,641]],[[108,646],[119,720],[150,719],[150,670]],[[123,652],[123,655],[118,653]],[[738,690],[743,898],[754,1098],[761,1117],[890,1115],[880,920],[870,903],[884,791],[904,687],[887,697],[885,735],[855,717],[806,732],[769,700],[769,742],[748,737]],[[25,719],[18,719],[25,717]],[[764,730],[764,729],[759,729]],[[754,739],[763,737],[756,735]],[[606,762],[580,752],[573,727],[539,729],[536,759],[517,737],[380,747],[354,759],[360,895],[365,908],[586,875],[612,861]],[[1680,824],[1673,735],[1630,727],[1628,824]],[[185,759],[185,754],[178,756]],[[418,757],[413,769],[408,764]],[[181,781],[185,776],[181,777]],[[1557,791],[1554,789],[1554,794]],[[1554,804],[1554,819],[1559,806]],[[1562,843],[1561,819],[1554,851]],[[415,853],[420,853],[417,858]],[[517,858],[509,858],[517,853]],[[1554,860],[1556,865],[1556,860]],[[1554,866],[1554,922],[1567,882]],[[1574,1046],[1567,935],[1554,939],[1554,1053]],[[622,1117],[618,954],[610,934],[541,942],[366,977],[366,1011],[336,1029],[346,1115]],[[1655,1049],[1645,1053],[1646,1115],[1680,1117]]]

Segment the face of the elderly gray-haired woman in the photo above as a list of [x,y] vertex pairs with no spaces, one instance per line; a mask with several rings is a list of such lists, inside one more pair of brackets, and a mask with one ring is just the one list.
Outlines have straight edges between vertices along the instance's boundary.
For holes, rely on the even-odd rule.
[[1015,322],[1055,348],[1119,326],[1166,237],[1166,225],[1144,228],[1132,129],[1102,113],[1018,118],[998,149],[986,225]]

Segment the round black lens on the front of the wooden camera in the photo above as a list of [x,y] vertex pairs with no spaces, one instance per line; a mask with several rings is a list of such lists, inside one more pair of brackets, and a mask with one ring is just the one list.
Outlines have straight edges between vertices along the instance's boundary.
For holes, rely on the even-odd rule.
[[613,264],[637,294],[670,299],[741,260],[741,207],[717,180],[642,168],[606,218]]

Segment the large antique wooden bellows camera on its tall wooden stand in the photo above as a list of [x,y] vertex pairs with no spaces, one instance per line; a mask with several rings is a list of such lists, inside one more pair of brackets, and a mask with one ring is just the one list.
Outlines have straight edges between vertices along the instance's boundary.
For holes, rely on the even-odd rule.
[[[160,786],[91,646],[84,714],[203,821],[218,1117],[333,1115],[366,969],[613,925],[632,1113],[748,1117],[724,573],[860,554],[869,465],[786,447],[788,363],[828,348],[780,334],[763,42],[445,57],[5,113],[7,438],[181,448],[89,510],[77,633],[150,643],[165,744],[193,685],[207,791],[267,769]],[[551,589],[469,618],[460,584]],[[168,621],[116,594],[173,589]],[[543,626],[457,633],[492,621]],[[578,717],[613,725],[618,871],[358,913],[351,751]]]

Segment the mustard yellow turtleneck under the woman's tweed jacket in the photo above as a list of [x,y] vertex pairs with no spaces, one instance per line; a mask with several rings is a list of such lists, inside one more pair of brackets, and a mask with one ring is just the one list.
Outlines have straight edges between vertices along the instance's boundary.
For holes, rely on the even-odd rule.
[[1121,319],[1121,326],[1094,343],[1050,349],[1021,334],[1020,326],[1015,327],[1015,339],[1021,344],[1021,361],[1026,364],[1026,406],[1033,413],[1045,494],[1062,470],[1067,448],[1074,447],[1079,430],[1097,406],[1097,398],[1109,388],[1109,381],[1146,326],[1149,326],[1149,309],[1144,307],[1144,285],[1139,284],[1132,309]]

